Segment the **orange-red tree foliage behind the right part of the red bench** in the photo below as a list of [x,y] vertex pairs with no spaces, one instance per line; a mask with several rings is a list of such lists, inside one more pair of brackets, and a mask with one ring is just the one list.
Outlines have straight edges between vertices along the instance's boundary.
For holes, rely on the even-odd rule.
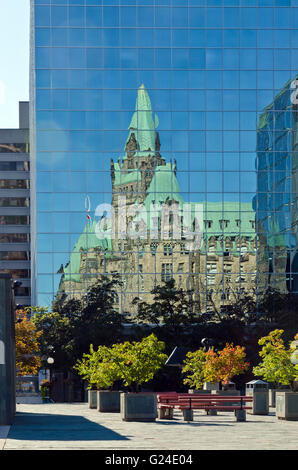
[[249,368],[249,362],[245,362],[245,358],[243,346],[226,344],[225,348],[218,352],[210,349],[206,352],[206,381],[228,384],[232,377],[243,374]]

